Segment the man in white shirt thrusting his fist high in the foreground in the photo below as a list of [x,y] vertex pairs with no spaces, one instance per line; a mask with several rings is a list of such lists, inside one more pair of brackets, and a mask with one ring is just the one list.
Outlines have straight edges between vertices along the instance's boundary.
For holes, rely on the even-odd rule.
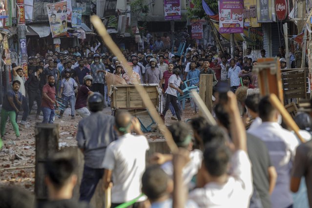
[[[246,130],[242,123],[234,93],[227,93],[225,106],[229,113],[230,134],[234,145],[231,155],[225,131],[215,135],[205,146],[202,167],[197,174],[197,187],[189,193],[189,199],[200,208],[249,208],[252,193],[251,164],[247,154]],[[220,127],[216,127],[220,128]],[[173,204],[183,207],[184,185],[182,171],[188,163],[183,149],[173,156],[174,192]],[[229,169],[229,164],[230,169]]]

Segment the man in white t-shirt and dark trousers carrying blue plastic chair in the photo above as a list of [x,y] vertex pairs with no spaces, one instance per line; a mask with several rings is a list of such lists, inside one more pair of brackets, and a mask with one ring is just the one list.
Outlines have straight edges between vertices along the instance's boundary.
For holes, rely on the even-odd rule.
[[165,121],[166,112],[169,109],[170,103],[173,105],[178,121],[181,121],[180,109],[179,109],[179,104],[178,104],[179,101],[177,99],[177,91],[180,93],[180,95],[183,95],[183,91],[179,88],[181,83],[182,81],[180,78],[180,69],[175,68],[173,70],[173,75],[170,76],[168,80],[168,87],[166,89],[166,105],[165,105],[163,114],[161,115],[164,121]]

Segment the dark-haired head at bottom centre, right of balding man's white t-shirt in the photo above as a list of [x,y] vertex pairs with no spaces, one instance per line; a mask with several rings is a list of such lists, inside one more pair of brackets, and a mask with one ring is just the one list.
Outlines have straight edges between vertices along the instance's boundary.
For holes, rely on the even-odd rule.
[[151,201],[156,201],[167,193],[169,177],[158,165],[149,166],[142,175],[142,192]]

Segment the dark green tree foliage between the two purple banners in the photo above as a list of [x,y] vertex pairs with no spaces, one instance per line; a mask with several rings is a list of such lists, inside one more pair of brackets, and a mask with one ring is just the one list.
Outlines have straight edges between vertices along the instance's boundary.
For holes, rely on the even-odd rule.
[[[218,14],[218,0],[205,0],[210,9]],[[202,0],[192,0],[194,8],[187,8],[187,15],[190,19],[206,18],[205,10],[203,9]]]

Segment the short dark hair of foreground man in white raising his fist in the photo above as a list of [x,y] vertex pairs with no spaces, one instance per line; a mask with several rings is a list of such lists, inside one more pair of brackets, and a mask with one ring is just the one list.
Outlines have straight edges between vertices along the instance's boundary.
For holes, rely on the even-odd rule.
[[203,156],[205,168],[211,176],[218,177],[227,173],[231,152],[224,143],[208,143]]

